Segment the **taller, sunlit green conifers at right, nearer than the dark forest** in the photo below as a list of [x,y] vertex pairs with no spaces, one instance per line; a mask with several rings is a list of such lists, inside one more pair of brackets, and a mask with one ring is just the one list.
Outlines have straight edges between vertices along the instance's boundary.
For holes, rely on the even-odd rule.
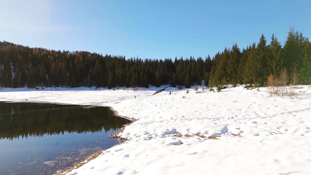
[[302,33],[290,28],[284,47],[272,35],[271,42],[262,34],[258,44],[243,49],[237,44],[215,55],[209,83],[255,84],[263,86],[269,75],[277,77],[286,69],[290,74],[299,73],[301,84],[311,84],[311,43]]

